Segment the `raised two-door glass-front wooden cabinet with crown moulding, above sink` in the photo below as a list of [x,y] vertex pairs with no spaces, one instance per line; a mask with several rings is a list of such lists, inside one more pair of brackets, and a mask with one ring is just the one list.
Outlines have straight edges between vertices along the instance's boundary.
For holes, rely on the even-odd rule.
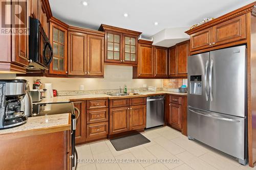
[[101,25],[105,34],[105,63],[137,65],[138,36],[141,32]]

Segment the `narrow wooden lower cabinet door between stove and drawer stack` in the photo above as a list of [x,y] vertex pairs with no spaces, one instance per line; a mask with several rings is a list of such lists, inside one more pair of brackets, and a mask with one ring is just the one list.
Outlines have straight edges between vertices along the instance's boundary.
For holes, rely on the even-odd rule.
[[[86,141],[86,103],[84,101],[73,102],[74,107],[76,107],[80,115],[76,120],[76,137],[75,143],[84,143]],[[77,114],[77,111],[75,110]]]

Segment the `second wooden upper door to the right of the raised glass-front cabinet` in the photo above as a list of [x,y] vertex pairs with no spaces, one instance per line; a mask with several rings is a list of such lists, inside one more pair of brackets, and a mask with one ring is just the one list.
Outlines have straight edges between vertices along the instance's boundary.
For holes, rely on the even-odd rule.
[[168,49],[155,46],[155,77],[168,77]]

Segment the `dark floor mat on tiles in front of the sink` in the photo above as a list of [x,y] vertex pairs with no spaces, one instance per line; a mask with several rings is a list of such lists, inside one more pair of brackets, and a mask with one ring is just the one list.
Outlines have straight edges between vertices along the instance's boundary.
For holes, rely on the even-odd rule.
[[150,140],[148,140],[145,136],[143,136],[140,133],[113,138],[110,139],[110,141],[117,151],[122,151],[128,148],[136,147],[138,145],[150,142]]

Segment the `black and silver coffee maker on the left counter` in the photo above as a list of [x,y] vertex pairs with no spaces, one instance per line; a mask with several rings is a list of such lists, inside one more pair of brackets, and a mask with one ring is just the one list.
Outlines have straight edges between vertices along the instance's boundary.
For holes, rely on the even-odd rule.
[[26,80],[0,80],[0,129],[25,124]]

